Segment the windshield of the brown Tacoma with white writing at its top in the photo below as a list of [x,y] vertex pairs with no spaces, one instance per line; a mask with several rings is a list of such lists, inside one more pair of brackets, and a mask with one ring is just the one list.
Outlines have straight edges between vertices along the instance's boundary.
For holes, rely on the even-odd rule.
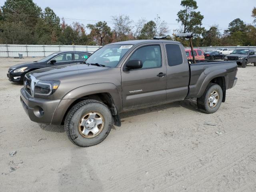
[[126,54],[130,48],[132,48],[132,45],[127,44],[105,45],[85,60],[85,63],[98,66],[116,67],[124,54]]

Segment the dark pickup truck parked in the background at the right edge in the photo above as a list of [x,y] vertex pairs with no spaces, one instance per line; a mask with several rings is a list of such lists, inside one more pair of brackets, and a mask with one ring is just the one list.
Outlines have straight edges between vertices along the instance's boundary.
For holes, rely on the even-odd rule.
[[238,66],[245,68],[248,63],[253,63],[256,66],[256,54],[254,50],[236,49],[230,55],[224,58],[225,61],[236,61]]

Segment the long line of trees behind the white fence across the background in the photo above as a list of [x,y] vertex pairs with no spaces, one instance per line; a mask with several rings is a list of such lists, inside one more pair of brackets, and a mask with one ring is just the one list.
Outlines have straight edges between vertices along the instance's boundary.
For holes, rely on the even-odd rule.
[[[33,0],[6,0],[0,8],[0,43],[8,44],[78,44],[104,45],[111,42],[150,39],[153,36],[193,32],[194,46],[255,46],[256,8],[252,8],[252,24],[240,18],[231,21],[221,32],[218,25],[208,30],[202,27],[204,16],[197,11],[196,0],[182,0],[177,13],[180,28],[170,31],[168,23],[156,16],[152,20],[140,18],[137,22],[121,14],[112,16],[112,28],[106,21],[84,24],[74,21],[67,24],[50,7],[44,10]],[[184,38],[171,38],[189,46]]]

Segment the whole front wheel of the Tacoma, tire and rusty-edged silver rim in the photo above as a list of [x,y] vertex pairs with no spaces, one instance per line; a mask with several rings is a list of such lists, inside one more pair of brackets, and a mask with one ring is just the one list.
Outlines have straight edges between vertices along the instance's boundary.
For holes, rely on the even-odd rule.
[[112,127],[109,108],[97,100],[84,100],[74,105],[68,112],[64,127],[68,138],[81,147],[89,147],[102,142]]

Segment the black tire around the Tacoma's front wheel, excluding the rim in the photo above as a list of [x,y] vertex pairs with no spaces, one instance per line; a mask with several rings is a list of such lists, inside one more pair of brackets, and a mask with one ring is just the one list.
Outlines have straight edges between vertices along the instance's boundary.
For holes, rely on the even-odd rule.
[[[86,138],[80,133],[79,124],[81,118],[87,113],[98,113],[102,115],[103,127],[100,128],[100,132],[92,137]],[[65,118],[64,127],[68,138],[74,144],[81,147],[89,147],[102,142],[109,134],[112,127],[112,115],[109,108],[97,100],[83,100],[75,104]],[[84,127],[85,129],[85,127]]]

